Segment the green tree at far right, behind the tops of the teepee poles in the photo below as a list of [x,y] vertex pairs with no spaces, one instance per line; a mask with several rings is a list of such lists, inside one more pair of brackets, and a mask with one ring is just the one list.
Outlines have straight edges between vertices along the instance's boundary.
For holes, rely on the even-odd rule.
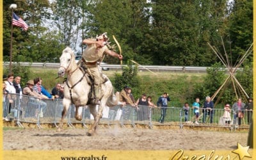
[[[228,20],[229,28],[226,32],[230,35],[233,65],[244,55],[253,42],[252,3],[252,0],[236,0],[232,4],[232,12]],[[252,61],[252,56],[248,58]]]

